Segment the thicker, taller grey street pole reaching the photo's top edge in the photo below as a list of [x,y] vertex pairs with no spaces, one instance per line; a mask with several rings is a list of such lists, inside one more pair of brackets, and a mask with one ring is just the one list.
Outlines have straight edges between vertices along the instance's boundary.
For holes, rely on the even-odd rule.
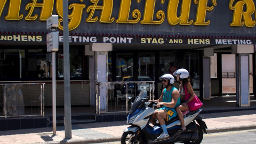
[[64,71],[64,125],[65,139],[71,139],[70,66],[68,40],[68,0],[63,0],[63,71]]

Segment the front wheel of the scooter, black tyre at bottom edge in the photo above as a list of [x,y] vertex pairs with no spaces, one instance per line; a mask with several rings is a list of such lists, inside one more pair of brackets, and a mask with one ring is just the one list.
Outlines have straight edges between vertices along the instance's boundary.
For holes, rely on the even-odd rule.
[[141,134],[135,135],[133,132],[124,132],[121,137],[121,144],[144,144],[145,140]]

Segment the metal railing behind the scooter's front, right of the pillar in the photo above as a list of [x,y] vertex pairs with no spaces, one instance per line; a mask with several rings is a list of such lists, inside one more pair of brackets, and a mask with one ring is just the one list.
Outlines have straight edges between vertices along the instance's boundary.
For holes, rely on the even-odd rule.
[[[97,82],[96,113],[128,113],[130,102],[128,97],[135,99],[140,91],[148,92],[148,99],[154,100],[154,81],[136,82]],[[103,96],[104,95],[104,96]]]

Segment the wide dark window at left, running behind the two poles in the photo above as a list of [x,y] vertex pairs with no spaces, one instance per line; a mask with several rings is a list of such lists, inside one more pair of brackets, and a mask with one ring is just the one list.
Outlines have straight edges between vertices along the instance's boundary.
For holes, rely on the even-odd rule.
[[[2,46],[0,50],[0,77],[2,81],[49,80],[52,77],[52,53],[46,46]],[[82,46],[70,48],[70,77],[83,76]],[[63,77],[63,49],[56,52],[57,78]]]

